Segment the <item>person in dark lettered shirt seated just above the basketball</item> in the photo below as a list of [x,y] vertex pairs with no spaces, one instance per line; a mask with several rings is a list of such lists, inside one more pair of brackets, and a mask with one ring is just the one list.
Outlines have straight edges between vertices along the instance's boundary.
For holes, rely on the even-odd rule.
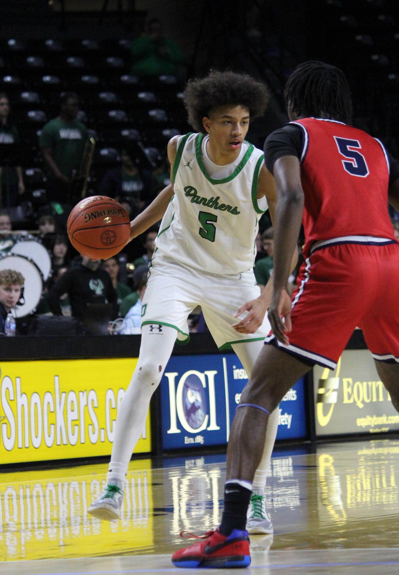
[[134,150],[126,146],[121,150],[121,166],[108,170],[98,193],[119,201],[128,198],[139,209],[143,208],[144,182],[134,160]]

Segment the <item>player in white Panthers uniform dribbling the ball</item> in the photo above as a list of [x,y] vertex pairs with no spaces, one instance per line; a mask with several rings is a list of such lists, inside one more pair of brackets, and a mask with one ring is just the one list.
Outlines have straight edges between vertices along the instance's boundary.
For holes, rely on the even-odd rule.
[[[273,178],[263,152],[245,141],[250,118],[264,113],[268,98],[263,84],[230,71],[212,71],[187,85],[184,102],[196,133],[169,141],[172,184],[131,222],[132,239],[162,218],[143,298],[138,363],[117,414],[107,486],[88,510],[95,517],[120,517],[132,451],[176,339],[189,340],[189,313],[201,306],[219,349],[232,347],[248,377],[268,335],[267,290],[256,310],[234,319],[244,302],[260,296],[252,270],[258,221],[267,208],[274,219]],[[244,317],[258,321],[255,333],[234,330]],[[252,533],[273,532],[264,488],[277,428],[278,409],[269,418],[253,482]]]

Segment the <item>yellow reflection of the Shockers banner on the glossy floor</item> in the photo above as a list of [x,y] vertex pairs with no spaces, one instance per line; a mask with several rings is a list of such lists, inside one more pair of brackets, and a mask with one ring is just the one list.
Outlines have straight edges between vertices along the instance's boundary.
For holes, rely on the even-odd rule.
[[111,541],[112,553],[153,549],[151,462],[132,462],[119,522],[87,514],[104,469],[0,474],[0,561],[107,555]]

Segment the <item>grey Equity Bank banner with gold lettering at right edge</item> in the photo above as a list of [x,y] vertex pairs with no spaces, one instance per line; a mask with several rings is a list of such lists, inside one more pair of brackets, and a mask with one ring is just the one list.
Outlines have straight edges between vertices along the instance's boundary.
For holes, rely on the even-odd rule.
[[317,435],[399,430],[399,413],[368,350],[345,350],[337,369],[313,368]]

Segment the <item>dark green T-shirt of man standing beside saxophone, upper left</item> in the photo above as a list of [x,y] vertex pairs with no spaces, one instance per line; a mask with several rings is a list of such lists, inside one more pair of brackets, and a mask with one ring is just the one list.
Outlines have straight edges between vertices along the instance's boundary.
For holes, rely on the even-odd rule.
[[[41,148],[51,148],[52,157],[59,171],[71,177],[74,170],[79,170],[82,163],[88,130],[82,122],[64,122],[54,118],[43,126],[39,138]],[[48,170],[48,177],[54,179],[54,174]]]

